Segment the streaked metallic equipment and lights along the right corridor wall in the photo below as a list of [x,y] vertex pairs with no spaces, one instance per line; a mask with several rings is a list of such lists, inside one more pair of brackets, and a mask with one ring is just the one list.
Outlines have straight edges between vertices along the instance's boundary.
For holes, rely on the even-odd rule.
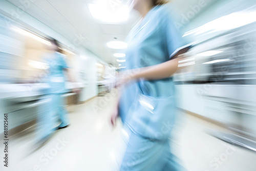
[[[226,127],[211,134],[256,151],[256,8],[209,22],[184,37],[197,41],[174,77],[178,107]],[[207,38],[206,38],[207,37]]]

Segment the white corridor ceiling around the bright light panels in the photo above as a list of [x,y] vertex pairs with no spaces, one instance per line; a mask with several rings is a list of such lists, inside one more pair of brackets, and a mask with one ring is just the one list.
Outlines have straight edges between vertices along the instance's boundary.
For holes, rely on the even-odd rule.
[[[17,7],[22,2],[8,1]],[[81,42],[84,47],[99,55],[106,62],[117,64],[113,53],[123,52],[123,50],[109,49],[106,42],[116,40],[114,38],[124,41],[126,35],[138,21],[139,15],[132,11],[124,24],[97,23],[88,9],[89,4],[90,0],[40,0],[31,3],[26,12],[71,42],[76,37],[86,37]],[[180,13],[186,13],[191,10],[190,5],[198,4],[198,0],[173,0],[173,4]]]

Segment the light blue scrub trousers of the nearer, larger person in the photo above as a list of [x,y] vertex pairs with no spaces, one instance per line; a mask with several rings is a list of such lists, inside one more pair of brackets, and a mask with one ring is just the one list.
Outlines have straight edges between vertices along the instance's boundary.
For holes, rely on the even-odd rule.
[[120,167],[121,171],[185,170],[170,152],[168,139],[151,140],[136,135],[131,130],[129,132],[129,142]]

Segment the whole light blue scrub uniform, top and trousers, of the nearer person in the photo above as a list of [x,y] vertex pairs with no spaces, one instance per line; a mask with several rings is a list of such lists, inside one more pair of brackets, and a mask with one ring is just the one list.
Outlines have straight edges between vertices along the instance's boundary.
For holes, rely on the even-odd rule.
[[[140,25],[135,26],[127,36],[127,70],[165,62],[186,45],[173,24],[168,7],[162,5],[151,9]],[[162,170],[164,165],[172,165],[172,160],[167,160],[171,155],[167,138],[175,120],[175,101],[172,77],[159,80],[141,79],[123,90],[119,114],[132,133],[121,170],[125,170],[129,156],[143,148],[144,142],[152,142],[153,146],[147,150],[146,155],[140,156],[133,164],[130,163],[130,169],[126,170],[157,171]],[[151,163],[156,165],[147,167],[152,166]],[[172,167],[176,169],[169,170],[181,168],[177,163]]]

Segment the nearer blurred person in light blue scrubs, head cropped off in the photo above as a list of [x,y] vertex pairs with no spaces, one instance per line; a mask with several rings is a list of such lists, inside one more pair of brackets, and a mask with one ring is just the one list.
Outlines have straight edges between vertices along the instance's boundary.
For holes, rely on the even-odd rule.
[[171,77],[189,45],[182,40],[161,0],[135,0],[141,21],[127,36],[126,69],[117,82],[118,115],[129,135],[120,170],[185,170],[170,152],[168,138],[175,120],[175,90]]

